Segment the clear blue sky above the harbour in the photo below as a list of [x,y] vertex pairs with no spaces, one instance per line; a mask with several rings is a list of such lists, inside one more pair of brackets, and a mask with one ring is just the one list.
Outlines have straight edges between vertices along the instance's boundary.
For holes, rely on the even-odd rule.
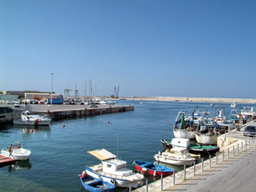
[[[0,90],[255,99],[256,1],[0,1]],[[85,83],[86,82],[86,83]]]

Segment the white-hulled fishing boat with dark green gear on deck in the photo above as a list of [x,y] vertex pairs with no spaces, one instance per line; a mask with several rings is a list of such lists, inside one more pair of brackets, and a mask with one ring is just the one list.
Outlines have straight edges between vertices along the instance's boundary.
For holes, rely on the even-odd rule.
[[179,112],[173,126],[173,134],[175,138],[183,138],[195,140],[195,127],[192,126],[193,121],[184,112]]

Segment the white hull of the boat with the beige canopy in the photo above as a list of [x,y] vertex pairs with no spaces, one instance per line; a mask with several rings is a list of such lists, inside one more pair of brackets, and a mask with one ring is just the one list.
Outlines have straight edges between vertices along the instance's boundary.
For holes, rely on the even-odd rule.
[[93,172],[93,170],[88,166],[86,166],[86,173],[90,177],[100,178],[101,180],[104,180],[111,184],[115,184],[115,186],[119,188],[129,188],[131,186],[131,188],[136,189],[140,181],[140,179],[136,179],[136,180],[119,179],[119,178],[116,178],[115,175],[112,175],[112,177],[108,177],[106,175]]

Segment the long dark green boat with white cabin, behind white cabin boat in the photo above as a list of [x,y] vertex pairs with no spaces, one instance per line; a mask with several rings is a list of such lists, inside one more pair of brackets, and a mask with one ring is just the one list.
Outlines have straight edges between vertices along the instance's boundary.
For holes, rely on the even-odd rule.
[[164,148],[186,147],[190,154],[195,154],[195,155],[209,154],[212,156],[216,154],[216,152],[220,151],[219,147],[211,146],[211,145],[192,144],[188,139],[174,138],[172,140],[161,140],[161,142],[163,143]]

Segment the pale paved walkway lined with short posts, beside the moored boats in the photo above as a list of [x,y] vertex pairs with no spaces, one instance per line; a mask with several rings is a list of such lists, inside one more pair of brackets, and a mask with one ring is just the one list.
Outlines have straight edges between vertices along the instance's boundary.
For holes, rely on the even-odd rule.
[[[256,125],[255,122],[250,124]],[[255,191],[256,141],[241,134],[236,136],[235,130],[234,134],[226,134],[226,137],[230,136],[240,139],[221,148],[217,156],[196,164],[195,173],[194,166],[191,166],[186,168],[186,177],[184,170],[175,173],[174,184],[171,175],[163,178],[162,186],[160,179],[148,184],[148,188],[143,184],[142,188],[134,191]]]

